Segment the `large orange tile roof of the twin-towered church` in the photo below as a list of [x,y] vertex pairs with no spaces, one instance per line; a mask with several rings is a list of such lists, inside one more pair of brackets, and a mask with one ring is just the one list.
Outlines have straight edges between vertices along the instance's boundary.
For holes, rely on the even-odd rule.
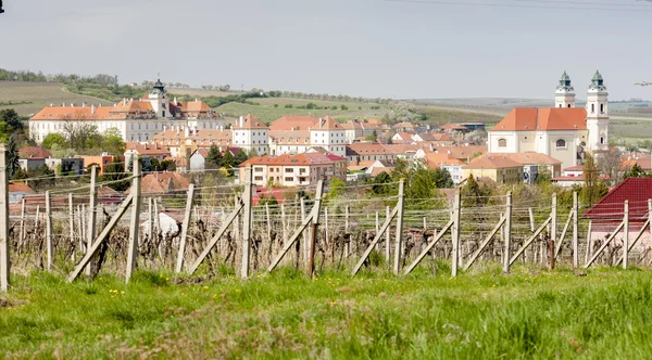
[[586,130],[586,119],[579,107],[516,107],[491,131]]

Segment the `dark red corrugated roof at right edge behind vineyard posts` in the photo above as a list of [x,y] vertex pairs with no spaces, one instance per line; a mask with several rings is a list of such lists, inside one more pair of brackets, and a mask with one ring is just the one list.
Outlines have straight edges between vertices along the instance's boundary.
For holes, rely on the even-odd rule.
[[652,198],[652,178],[629,178],[585,211],[584,217],[597,220],[623,219],[625,201],[629,201],[629,220],[641,221],[648,218],[649,198]]

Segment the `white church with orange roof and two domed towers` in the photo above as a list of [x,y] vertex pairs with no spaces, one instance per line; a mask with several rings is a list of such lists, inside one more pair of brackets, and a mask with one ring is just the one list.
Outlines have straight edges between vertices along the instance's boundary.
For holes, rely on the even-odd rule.
[[607,95],[604,79],[595,72],[586,107],[575,107],[575,88],[564,72],[555,90],[554,107],[514,108],[488,131],[488,152],[536,152],[561,160],[563,168],[581,165],[585,152],[607,150]]

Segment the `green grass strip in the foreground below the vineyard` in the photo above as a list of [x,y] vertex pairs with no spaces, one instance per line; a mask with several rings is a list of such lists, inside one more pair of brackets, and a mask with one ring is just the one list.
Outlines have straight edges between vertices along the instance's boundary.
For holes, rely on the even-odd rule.
[[0,299],[11,358],[647,358],[652,273],[516,268],[451,279],[289,269],[193,283],[36,273]]

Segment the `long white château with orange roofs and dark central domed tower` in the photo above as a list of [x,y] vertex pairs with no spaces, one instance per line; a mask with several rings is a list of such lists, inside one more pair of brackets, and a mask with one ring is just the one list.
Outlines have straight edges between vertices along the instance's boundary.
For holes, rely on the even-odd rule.
[[171,102],[165,87],[158,80],[152,91],[140,100],[124,99],[113,106],[51,104],[29,119],[29,133],[37,142],[51,132],[65,133],[67,128],[95,125],[103,133],[117,129],[123,140],[147,142],[158,132],[173,127],[215,129],[222,119],[203,102]]

